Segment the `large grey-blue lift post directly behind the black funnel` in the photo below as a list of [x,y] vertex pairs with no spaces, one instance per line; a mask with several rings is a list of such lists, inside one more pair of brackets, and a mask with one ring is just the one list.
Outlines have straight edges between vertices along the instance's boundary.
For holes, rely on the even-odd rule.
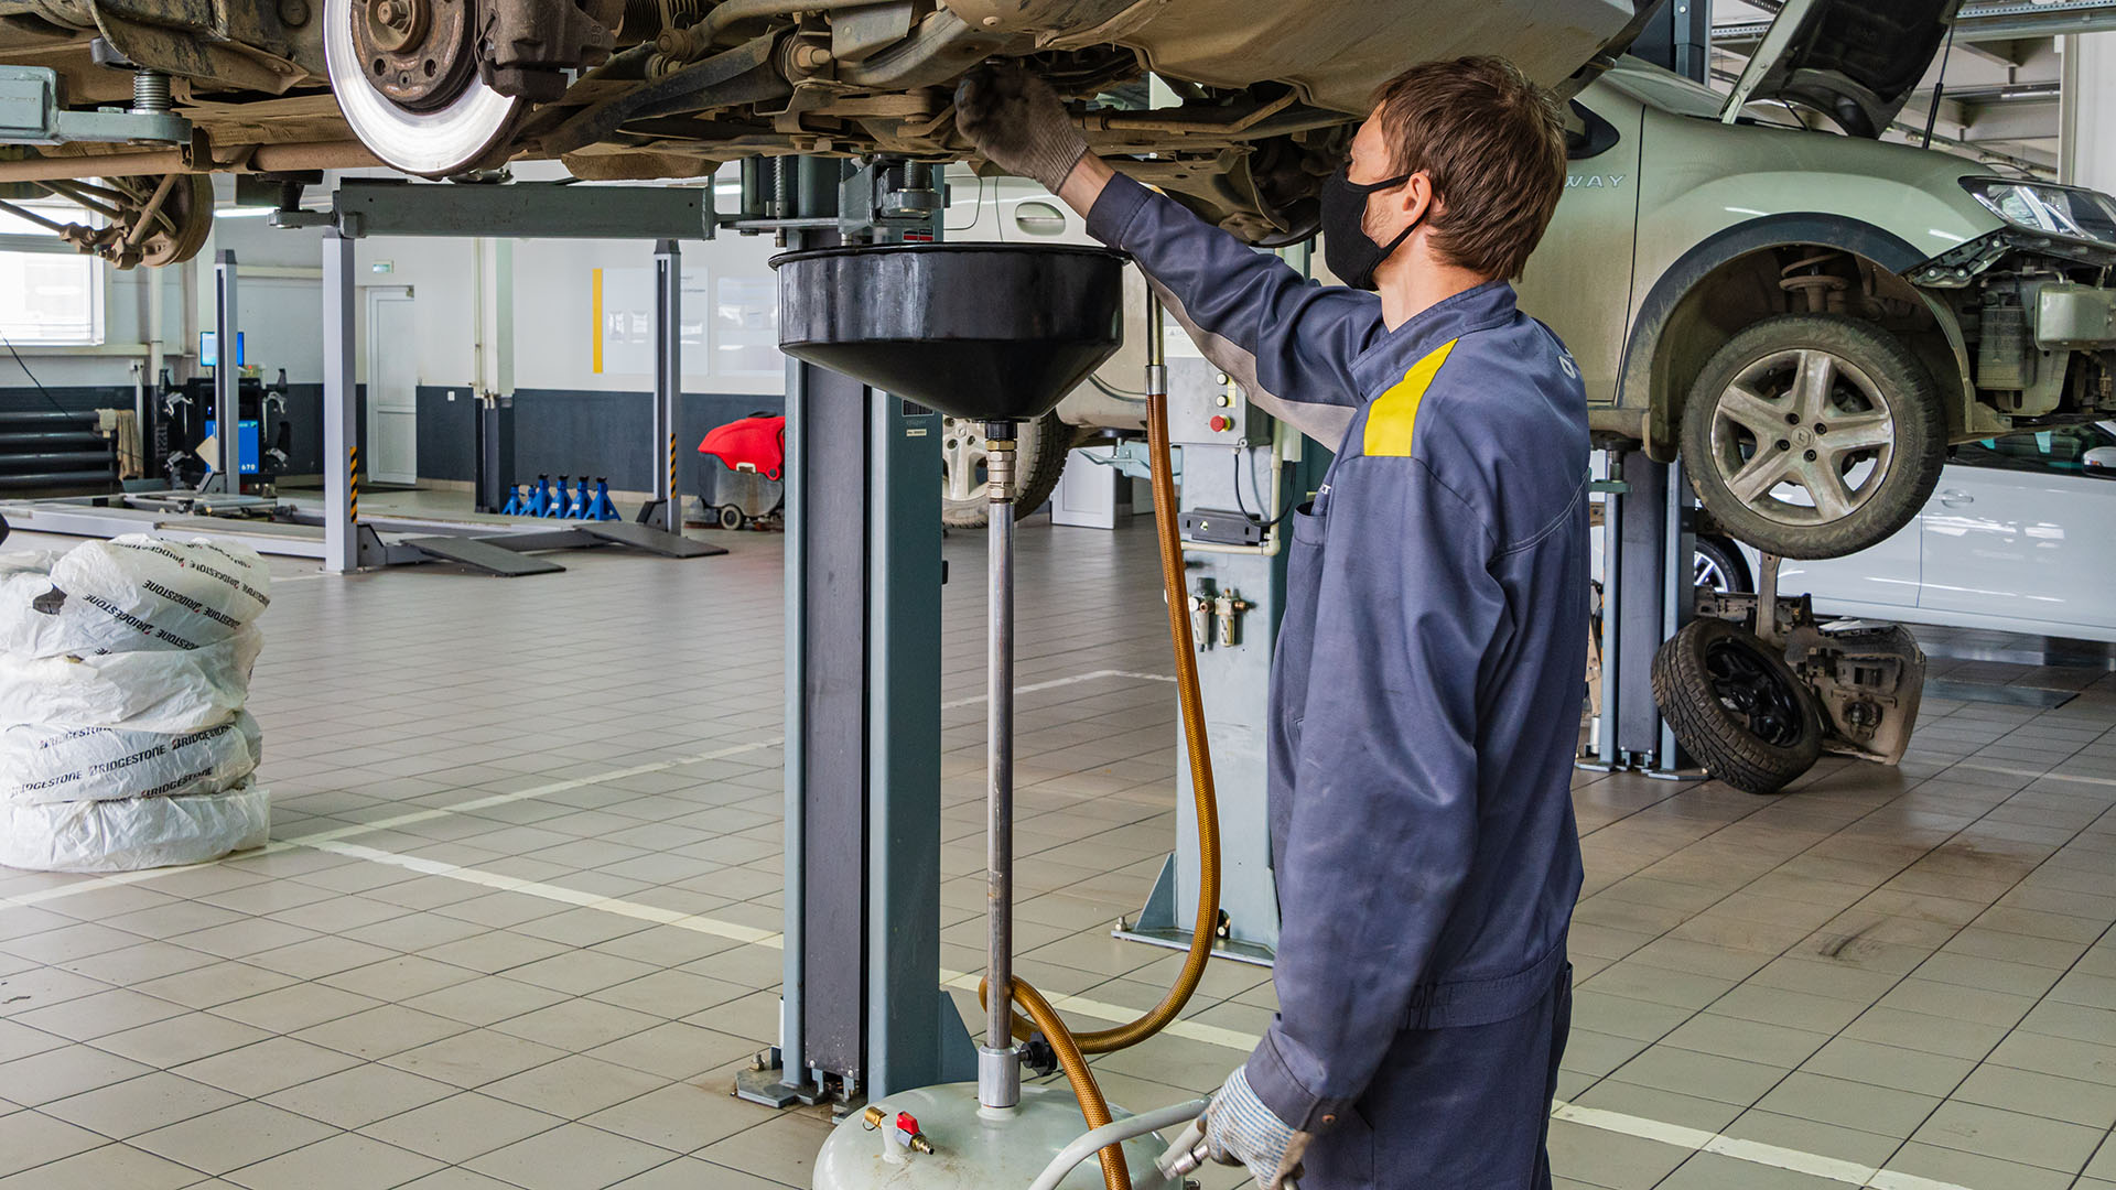
[[[940,239],[937,174],[745,161],[728,227]],[[736,1095],[849,1105],[978,1071],[940,987],[940,415],[794,358],[785,413],[785,972]]]

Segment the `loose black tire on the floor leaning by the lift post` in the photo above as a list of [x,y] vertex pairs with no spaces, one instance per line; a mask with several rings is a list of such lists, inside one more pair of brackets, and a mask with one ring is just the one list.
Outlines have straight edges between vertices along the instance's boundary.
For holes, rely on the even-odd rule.
[[1653,701],[1682,747],[1737,790],[1775,794],[1822,758],[1807,686],[1727,620],[1691,620],[1653,654]]

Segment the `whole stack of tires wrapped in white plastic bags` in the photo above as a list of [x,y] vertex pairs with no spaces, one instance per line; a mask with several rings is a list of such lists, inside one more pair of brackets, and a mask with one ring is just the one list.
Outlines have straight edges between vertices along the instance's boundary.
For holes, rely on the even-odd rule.
[[0,864],[118,872],[262,847],[243,709],[271,603],[245,546],[0,555]]

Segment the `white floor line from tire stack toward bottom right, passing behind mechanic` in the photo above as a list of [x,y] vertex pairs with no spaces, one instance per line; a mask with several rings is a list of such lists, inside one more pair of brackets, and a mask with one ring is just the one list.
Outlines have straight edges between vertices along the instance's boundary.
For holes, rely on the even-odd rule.
[[[444,877],[451,881],[466,881],[472,885],[482,885],[491,889],[518,891],[525,896],[535,896],[544,900],[554,900],[561,904],[573,904],[580,908],[595,908],[599,913],[616,913],[620,917],[633,917],[637,921],[652,921],[656,925],[673,925],[677,930],[690,930],[696,934],[711,934],[715,938],[730,938],[734,942],[747,942],[755,946],[781,949],[785,946],[785,936],[758,930],[753,925],[736,925],[732,921],[715,921],[696,913],[677,913],[673,908],[660,908],[652,904],[639,904],[614,896],[584,894],[567,889],[561,885],[550,885],[542,881],[525,881],[518,877],[508,877],[501,872],[487,872],[478,868],[463,868],[459,864],[444,864],[440,860],[421,860],[417,855],[396,855],[391,851],[379,851],[375,847],[360,847],[355,843],[339,841],[315,841],[305,843],[322,851],[336,855],[349,855],[355,860],[368,860],[375,864],[391,864],[398,868],[408,868],[413,872],[425,872],[430,877]],[[942,987],[978,991],[980,976],[973,972],[940,972]],[[1075,1016],[1094,1016],[1098,1021],[1130,1021],[1138,1012],[1121,1004],[1105,1004],[1100,999],[1090,999],[1086,995],[1052,995],[1052,1008],[1069,1012]],[[1240,1029],[1225,1029],[1219,1025],[1204,1025],[1198,1021],[1172,1021],[1164,1029],[1170,1038],[1185,1038],[1191,1042],[1204,1042],[1210,1046],[1221,1046],[1229,1052],[1242,1052],[1257,1048],[1257,1033],[1244,1033]],[[1712,1152],[1733,1160],[1744,1160],[1748,1165],[1765,1165],[1773,1169],[1788,1169],[1794,1173],[1807,1173],[1811,1177],[1822,1177],[1828,1182],[1839,1182],[1843,1186],[1854,1186],[1860,1190],[1970,1190],[1968,1186],[1957,1186],[1953,1182],[1934,1182],[1930,1177],[1919,1177],[1915,1173],[1898,1173],[1892,1169],[1875,1169],[1871,1165],[1858,1165],[1854,1160],[1843,1160],[1835,1156],[1822,1156],[1813,1152],[1801,1152],[1790,1148],[1780,1148],[1763,1141],[1748,1141],[1739,1137],[1729,1137],[1722,1133],[1705,1133],[1701,1129],[1684,1129],[1680,1124],[1667,1124],[1663,1120],[1648,1120],[1644,1116],[1627,1116],[1623,1112],[1604,1112],[1600,1107],[1581,1107],[1576,1103],[1557,1101],[1551,1107],[1551,1118],[1568,1120],[1587,1129],[1598,1129],[1604,1133],[1621,1133],[1627,1137],[1640,1137],[1646,1141],[1674,1146],[1691,1152]]]

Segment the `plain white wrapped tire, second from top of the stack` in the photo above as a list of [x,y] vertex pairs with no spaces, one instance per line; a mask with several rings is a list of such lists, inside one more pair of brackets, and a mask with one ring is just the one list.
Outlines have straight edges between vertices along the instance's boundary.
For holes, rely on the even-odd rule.
[[199,731],[241,709],[260,648],[248,627],[190,652],[0,654],[0,722]]

